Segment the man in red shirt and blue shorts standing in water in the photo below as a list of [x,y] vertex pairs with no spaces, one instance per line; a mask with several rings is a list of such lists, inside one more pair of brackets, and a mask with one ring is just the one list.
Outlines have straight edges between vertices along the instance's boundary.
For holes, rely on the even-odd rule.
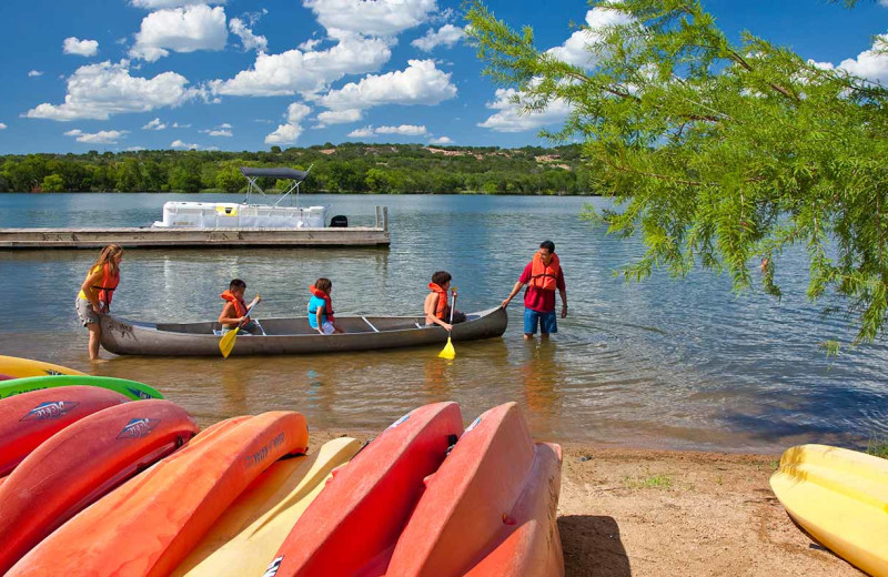
[[558,255],[555,254],[554,242],[543,241],[539,243],[539,250],[534,254],[533,261],[524,267],[518,282],[503,301],[503,308],[508,306],[512,298],[525,285],[527,285],[527,291],[524,293],[524,338],[535,335],[537,325],[539,325],[541,337],[548,338],[551,333],[558,332],[558,323],[555,317],[556,290],[562,295],[562,318],[567,316],[567,290]]

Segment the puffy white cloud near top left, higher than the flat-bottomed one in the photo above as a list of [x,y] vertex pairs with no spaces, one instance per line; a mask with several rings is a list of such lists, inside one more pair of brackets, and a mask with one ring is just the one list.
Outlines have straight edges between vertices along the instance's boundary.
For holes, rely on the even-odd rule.
[[225,9],[206,4],[189,6],[151,12],[142,20],[130,57],[149,62],[175,52],[222,50],[229,31]]

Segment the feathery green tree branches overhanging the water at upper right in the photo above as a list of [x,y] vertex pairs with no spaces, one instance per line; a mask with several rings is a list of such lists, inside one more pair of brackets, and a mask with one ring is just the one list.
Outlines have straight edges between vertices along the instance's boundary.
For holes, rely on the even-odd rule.
[[808,297],[841,295],[855,342],[882,335],[888,90],[751,33],[733,42],[697,0],[593,6],[615,23],[584,27],[582,63],[538,50],[529,27],[516,32],[478,2],[466,30],[517,104],[569,105],[562,129],[544,134],[583,140],[598,186],[616,200],[595,216],[646,244],[622,273],[686,275],[700,265],[744,290],[763,260],[763,285],[779,296],[780,254],[801,244]]

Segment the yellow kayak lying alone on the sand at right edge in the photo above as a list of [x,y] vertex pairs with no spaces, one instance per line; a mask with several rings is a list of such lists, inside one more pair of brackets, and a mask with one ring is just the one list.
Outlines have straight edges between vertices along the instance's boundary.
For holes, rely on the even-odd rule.
[[888,576],[888,460],[800,445],[780,457],[770,487],[825,547],[870,575]]

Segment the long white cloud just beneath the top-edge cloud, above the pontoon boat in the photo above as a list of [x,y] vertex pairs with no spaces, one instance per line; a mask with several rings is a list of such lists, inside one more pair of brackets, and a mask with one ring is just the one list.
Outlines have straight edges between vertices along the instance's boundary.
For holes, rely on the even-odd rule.
[[210,82],[216,94],[239,97],[292,95],[311,93],[345,74],[363,74],[379,70],[392,51],[377,38],[343,34],[339,43],[320,52],[287,50],[280,54],[260,52],[250,70],[231,80]]

